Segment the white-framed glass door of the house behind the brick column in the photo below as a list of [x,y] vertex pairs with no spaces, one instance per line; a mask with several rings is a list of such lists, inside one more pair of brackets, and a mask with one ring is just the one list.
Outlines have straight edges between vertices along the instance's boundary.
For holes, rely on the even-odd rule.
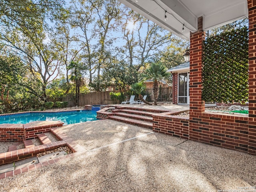
[[189,73],[179,73],[178,104],[189,104]]

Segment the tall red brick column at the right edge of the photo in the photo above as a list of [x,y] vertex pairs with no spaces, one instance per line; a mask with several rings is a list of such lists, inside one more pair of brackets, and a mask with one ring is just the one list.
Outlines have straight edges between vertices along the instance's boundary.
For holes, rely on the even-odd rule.
[[248,153],[256,154],[256,0],[247,0],[249,18]]

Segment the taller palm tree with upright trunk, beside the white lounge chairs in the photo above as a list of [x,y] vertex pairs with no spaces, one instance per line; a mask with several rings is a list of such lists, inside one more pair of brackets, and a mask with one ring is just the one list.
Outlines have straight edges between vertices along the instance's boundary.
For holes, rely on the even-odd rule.
[[156,101],[159,94],[159,81],[167,78],[170,73],[167,72],[167,68],[161,63],[151,63],[150,68],[146,69],[144,77],[153,80],[153,94],[154,94],[154,105],[157,105]]

